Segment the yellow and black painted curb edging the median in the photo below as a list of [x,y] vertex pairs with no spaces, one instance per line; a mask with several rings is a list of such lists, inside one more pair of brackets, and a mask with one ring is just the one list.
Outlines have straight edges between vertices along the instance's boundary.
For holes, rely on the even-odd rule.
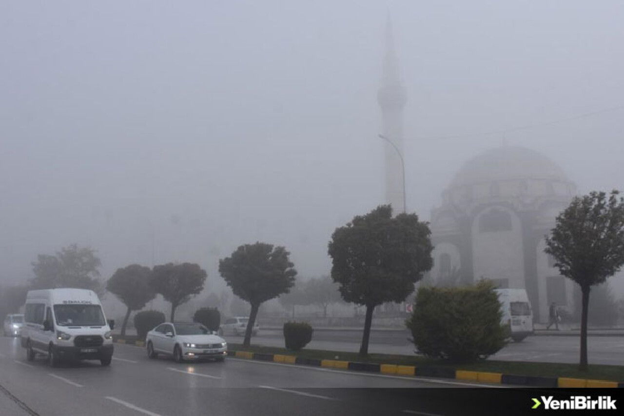
[[[136,345],[145,347],[143,341],[130,341],[114,338],[114,342],[119,344]],[[462,381],[474,381],[489,384],[506,384],[524,387],[624,387],[624,382],[613,382],[605,380],[568,379],[566,377],[535,377],[532,375],[502,374],[492,372],[456,370],[448,367],[396,365],[396,364],[375,364],[370,362],[342,361],[342,360],[318,360],[297,357],[296,355],[284,354],[263,354],[251,351],[228,350],[228,356],[239,359],[278,362],[283,364],[311,365],[313,367],[323,367],[327,369],[341,369],[366,371],[389,375],[437,377],[441,379],[455,379]]]

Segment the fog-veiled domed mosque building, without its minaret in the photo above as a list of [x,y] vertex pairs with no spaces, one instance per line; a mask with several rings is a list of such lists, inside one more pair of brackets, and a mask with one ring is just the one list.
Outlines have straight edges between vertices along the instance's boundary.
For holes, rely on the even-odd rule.
[[573,285],[544,253],[545,235],[576,186],[548,157],[502,146],[459,169],[432,210],[434,267],[428,280],[456,285],[481,277],[500,288],[526,289],[536,322],[548,305],[573,309]]

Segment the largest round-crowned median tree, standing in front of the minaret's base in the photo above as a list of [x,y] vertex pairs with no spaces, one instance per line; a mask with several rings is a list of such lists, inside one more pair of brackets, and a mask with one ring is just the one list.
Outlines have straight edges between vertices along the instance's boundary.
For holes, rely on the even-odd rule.
[[368,355],[375,307],[405,300],[431,269],[430,234],[416,214],[392,217],[392,207],[383,205],[354,217],[331,236],[331,277],[344,300],[366,307],[360,355]]

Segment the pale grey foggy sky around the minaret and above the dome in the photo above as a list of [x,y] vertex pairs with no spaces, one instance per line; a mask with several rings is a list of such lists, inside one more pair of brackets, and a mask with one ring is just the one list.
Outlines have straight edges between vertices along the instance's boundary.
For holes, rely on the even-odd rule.
[[334,228],[384,202],[387,11],[410,211],[504,142],[624,191],[624,109],[467,136],[624,106],[621,1],[3,1],[0,282],[74,242],[105,279],[190,261],[222,287],[256,240],[328,272]]

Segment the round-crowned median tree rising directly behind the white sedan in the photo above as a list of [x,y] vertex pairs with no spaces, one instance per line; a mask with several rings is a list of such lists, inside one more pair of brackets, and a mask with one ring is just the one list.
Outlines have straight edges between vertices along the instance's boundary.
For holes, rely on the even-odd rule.
[[188,302],[193,295],[202,292],[208,274],[198,264],[167,263],[157,265],[150,275],[150,286],[158,294],[171,302],[171,322],[175,309]]

